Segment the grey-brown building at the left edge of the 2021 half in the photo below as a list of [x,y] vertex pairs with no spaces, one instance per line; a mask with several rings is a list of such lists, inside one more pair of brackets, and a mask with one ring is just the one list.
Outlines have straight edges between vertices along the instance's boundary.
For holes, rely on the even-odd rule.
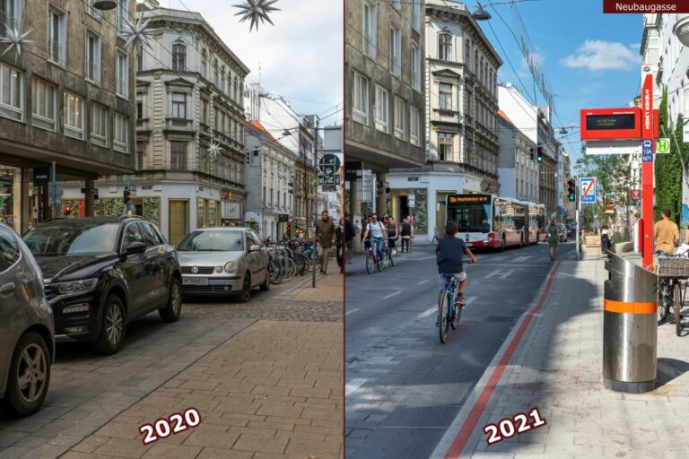
[[[423,166],[423,37],[423,0],[345,2],[345,155],[355,223],[362,213],[356,170],[361,177],[371,169],[386,190],[389,169]],[[386,212],[388,194],[376,201]]]

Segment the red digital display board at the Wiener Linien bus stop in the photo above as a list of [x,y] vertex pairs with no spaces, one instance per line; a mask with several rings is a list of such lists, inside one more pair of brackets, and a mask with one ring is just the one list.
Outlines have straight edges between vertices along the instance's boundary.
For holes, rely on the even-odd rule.
[[641,139],[641,108],[586,108],[580,118],[581,140]]

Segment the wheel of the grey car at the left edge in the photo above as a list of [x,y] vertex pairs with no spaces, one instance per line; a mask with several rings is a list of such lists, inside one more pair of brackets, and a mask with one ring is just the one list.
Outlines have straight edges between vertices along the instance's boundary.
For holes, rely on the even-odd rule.
[[25,333],[14,349],[3,408],[14,416],[39,411],[50,384],[50,354],[39,333]]

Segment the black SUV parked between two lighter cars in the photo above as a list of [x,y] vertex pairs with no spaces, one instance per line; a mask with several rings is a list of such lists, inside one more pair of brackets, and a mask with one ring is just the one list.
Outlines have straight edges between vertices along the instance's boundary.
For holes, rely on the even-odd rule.
[[158,310],[174,322],[182,308],[177,251],[141,217],[56,219],[27,231],[39,262],[57,337],[114,354],[126,324]]

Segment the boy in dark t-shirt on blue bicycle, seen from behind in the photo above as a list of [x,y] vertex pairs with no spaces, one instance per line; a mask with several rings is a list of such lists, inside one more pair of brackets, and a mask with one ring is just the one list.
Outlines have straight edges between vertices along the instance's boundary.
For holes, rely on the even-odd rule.
[[449,221],[445,225],[445,237],[438,241],[438,247],[435,248],[435,255],[438,263],[438,318],[440,324],[440,305],[442,302],[442,293],[445,290],[445,278],[448,276],[455,276],[459,281],[459,288],[455,303],[459,306],[464,306],[464,290],[467,288],[467,273],[464,272],[462,265],[462,258],[467,254],[472,263],[476,263],[474,254],[468,249],[467,245],[460,238],[455,238],[457,234],[457,223]]

